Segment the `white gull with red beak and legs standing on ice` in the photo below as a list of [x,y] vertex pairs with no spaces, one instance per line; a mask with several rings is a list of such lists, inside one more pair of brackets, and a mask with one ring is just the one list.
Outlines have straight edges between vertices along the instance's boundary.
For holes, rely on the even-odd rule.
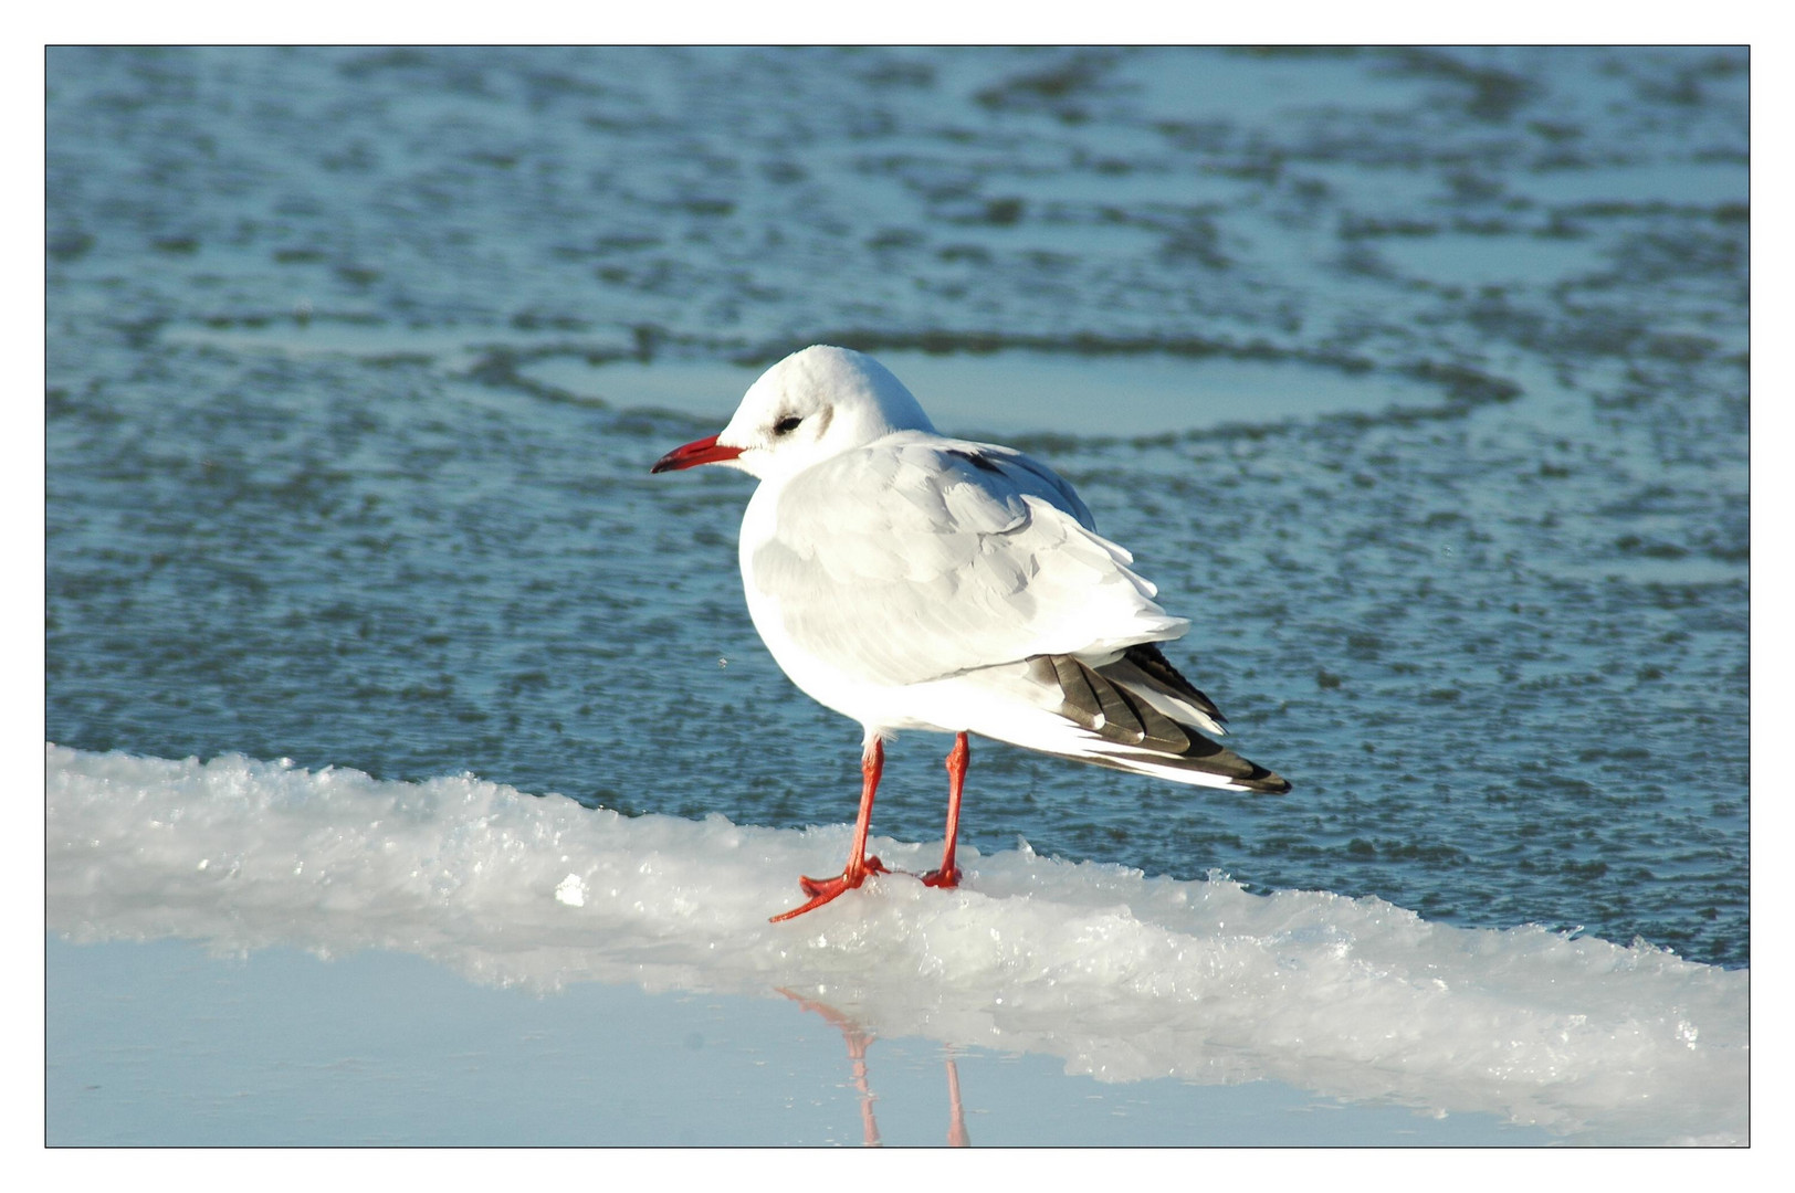
[[847,865],[801,877],[810,901],[772,922],[889,872],[867,829],[899,730],[953,734],[928,886],[960,881],[968,734],[1172,782],[1291,789],[1215,741],[1221,709],[1158,646],[1190,623],[1154,603],[1072,486],[1014,448],[939,434],[872,357],[817,344],[779,361],[727,427],[652,472],[696,465],[759,479],[741,518],[749,615],[792,682],[863,730]]

